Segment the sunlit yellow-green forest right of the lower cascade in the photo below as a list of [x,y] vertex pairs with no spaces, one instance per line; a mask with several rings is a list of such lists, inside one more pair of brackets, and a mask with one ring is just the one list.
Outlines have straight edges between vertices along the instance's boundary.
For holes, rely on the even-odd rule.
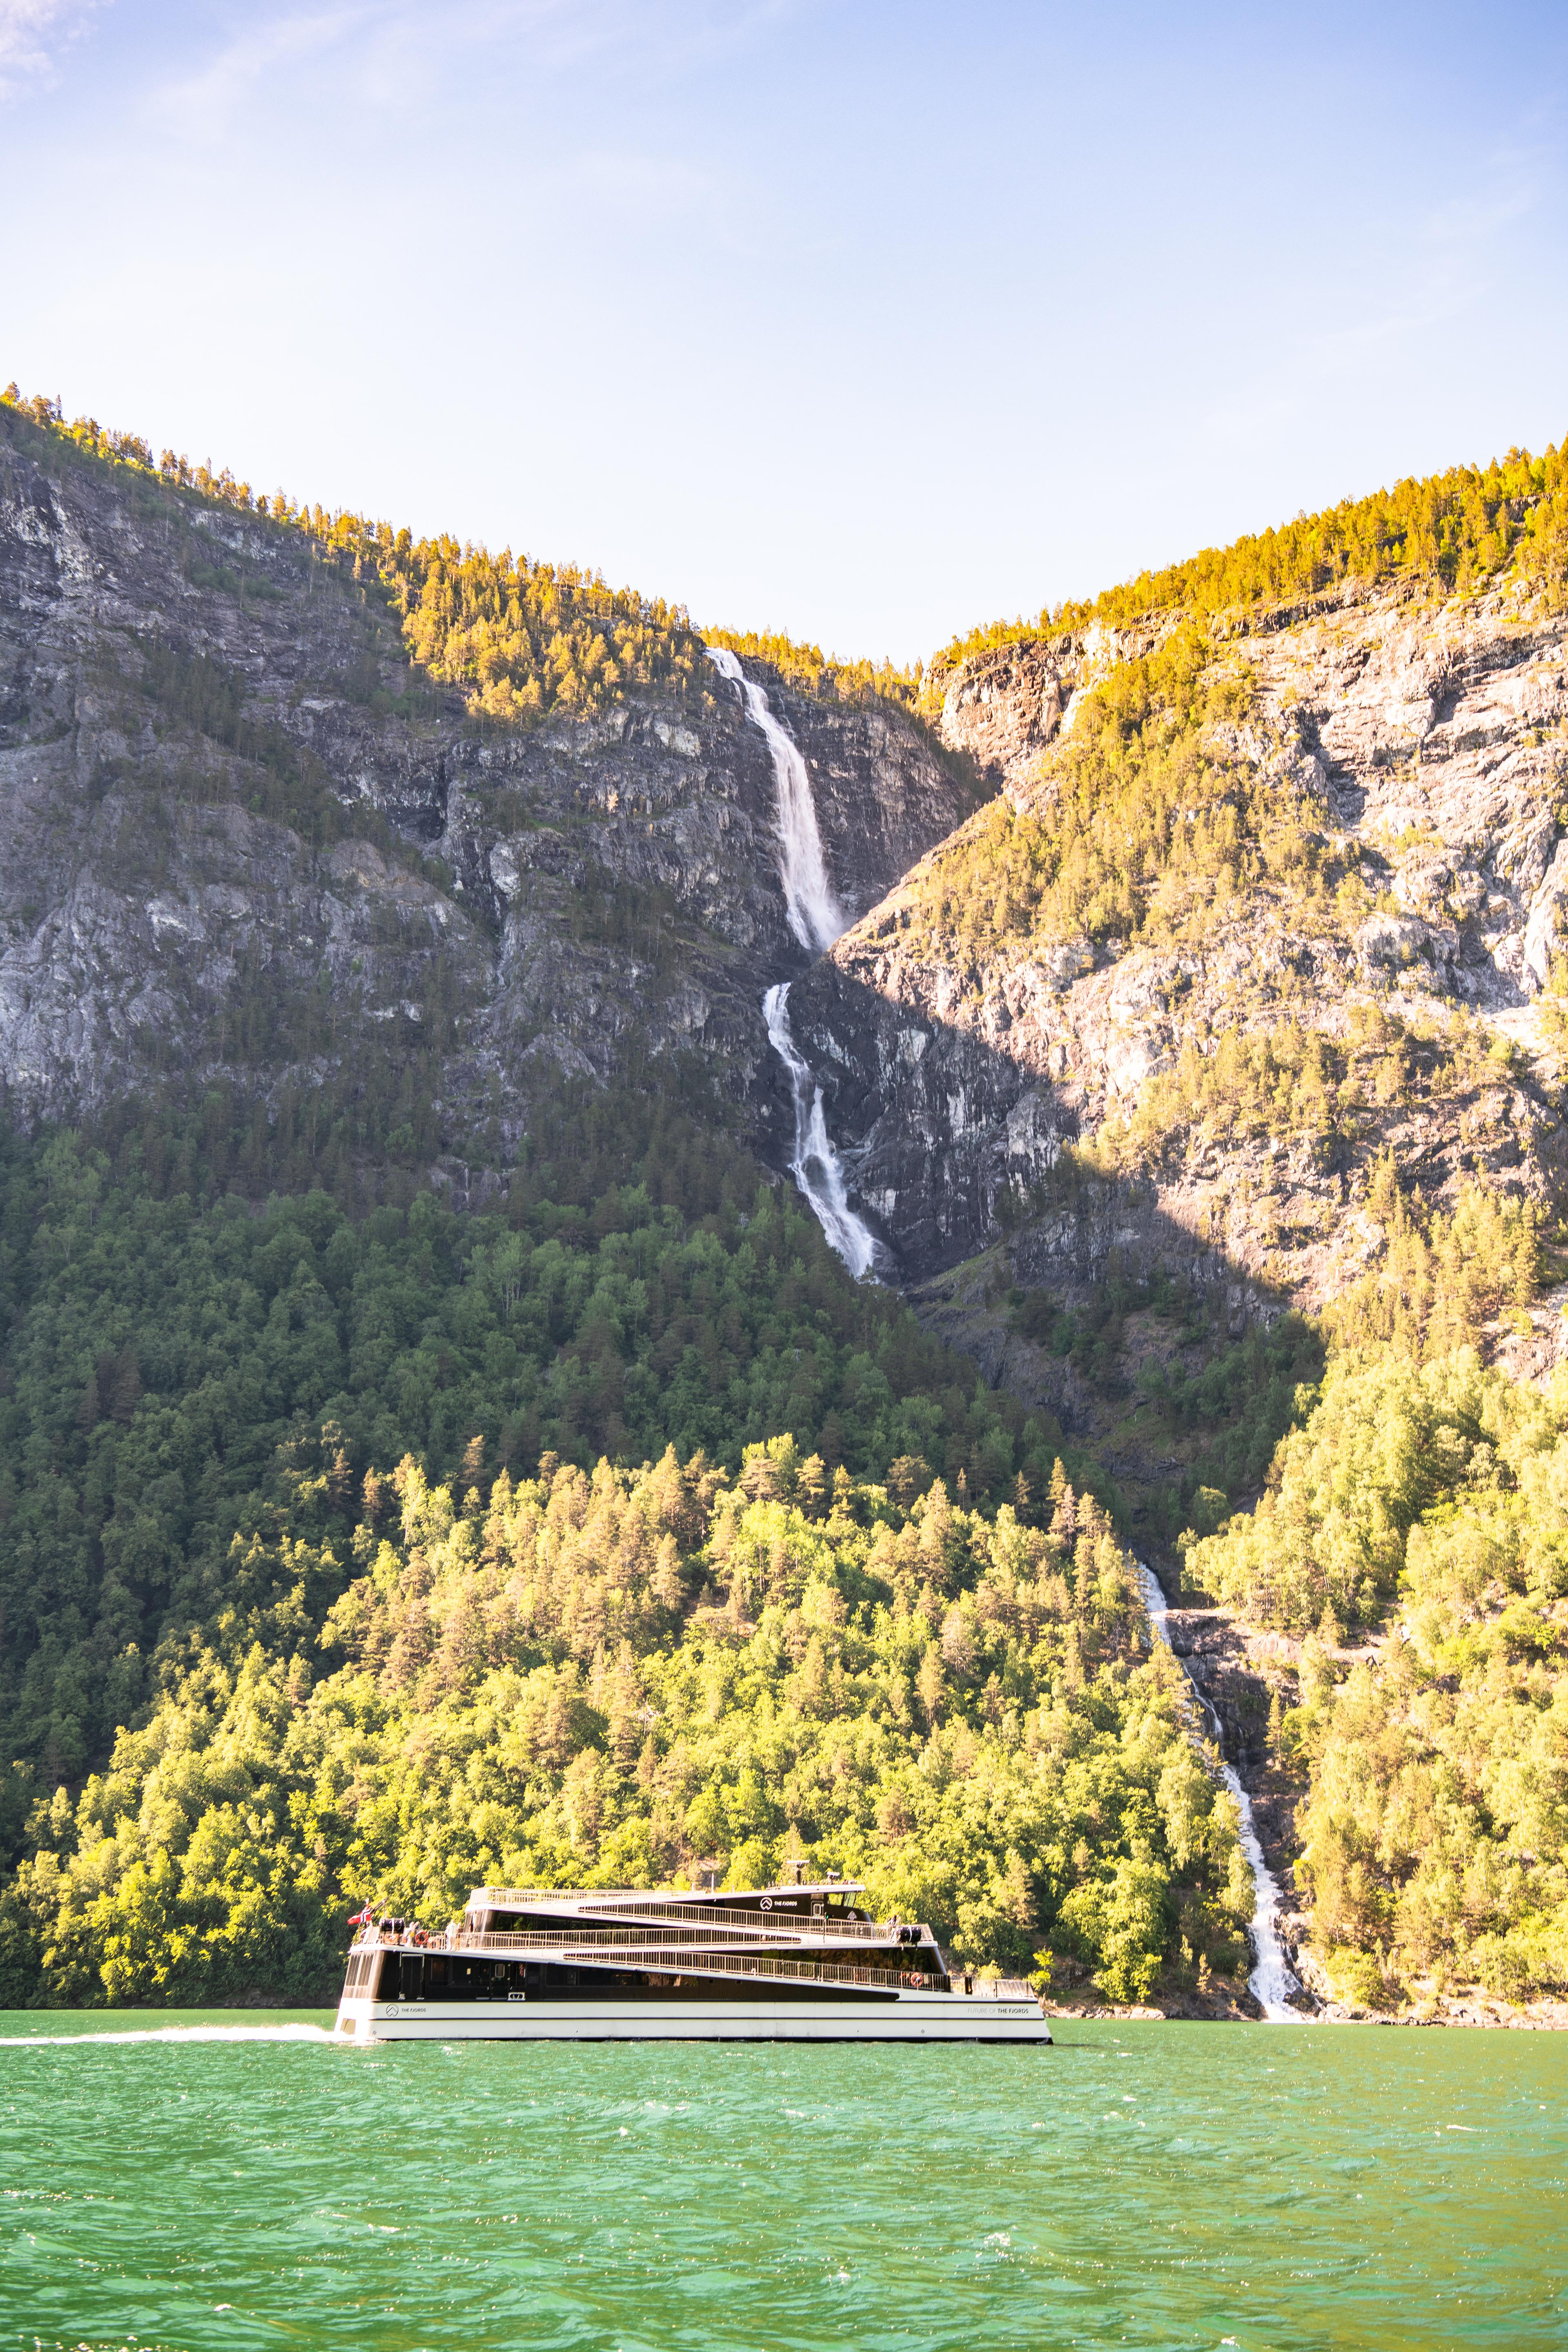
[[[1279,1762],[1331,1983],[1373,2009],[1568,1983],[1568,1388],[1474,1348],[1331,1359],[1201,1592],[1305,1630]],[[1378,1632],[1375,1646],[1345,1644]]]

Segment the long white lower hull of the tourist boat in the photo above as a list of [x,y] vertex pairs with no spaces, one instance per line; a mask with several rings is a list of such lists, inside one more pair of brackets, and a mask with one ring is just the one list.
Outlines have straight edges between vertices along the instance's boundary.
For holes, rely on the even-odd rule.
[[353,2042],[1051,2042],[1034,2002],[900,1992],[893,2002],[343,2002]]

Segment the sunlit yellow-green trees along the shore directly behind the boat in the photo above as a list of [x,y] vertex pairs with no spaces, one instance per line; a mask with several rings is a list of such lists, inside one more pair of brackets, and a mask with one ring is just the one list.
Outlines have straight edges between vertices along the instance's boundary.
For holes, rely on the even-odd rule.
[[1232,1799],[1060,1470],[1030,1529],[788,1435],[738,1477],[545,1458],[489,1501],[480,1458],[371,1472],[348,1543],[327,1463],[235,1538],[108,1769],[38,1799],[0,2002],[306,1997],[367,1896],[440,1922],[487,1879],[750,1886],[783,1853],[1114,1999],[1241,1966]]

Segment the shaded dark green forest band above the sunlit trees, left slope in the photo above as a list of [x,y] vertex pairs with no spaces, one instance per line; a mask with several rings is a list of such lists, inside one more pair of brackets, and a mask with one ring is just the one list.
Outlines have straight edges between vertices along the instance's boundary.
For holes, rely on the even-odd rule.
[[668,1120],[632,1181],[581,1200],[581,1167],[543,1167],[496,1214],[202,1200],[174,1150],[158,1190],[141,1143],[0,1155],[0,1722],[47,1778],[106,1755],[160,1639],[223,1604],[233,1545],[301,1479],[341,1538],[374,1463],[449,1477],[475,1442],[491,1470],[670,1444],[733,1470],[797,1430],[827,1475],[903,1458],[1025,1510],[1048,1484],[1048,1418],[856,1289],[745,1152]]

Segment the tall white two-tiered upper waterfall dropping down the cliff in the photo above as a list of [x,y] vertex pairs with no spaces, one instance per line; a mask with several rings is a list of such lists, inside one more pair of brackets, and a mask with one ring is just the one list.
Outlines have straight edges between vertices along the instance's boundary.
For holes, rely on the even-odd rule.
[[[710,644],[708,659],[741,689],[745,715],[762,729],[773,760],[773,783],[778,788],[778,880],[783,882],[790,929],[806,950],[820,955],[844,929],[844,910],[832,896],[827,863],[823,858],[823,835],[816,828],[816,800],[811,776],[785,729],[769,710],[762,687],[755,687],[726,644]],[[790,1098],[795,1103],[795,1157],[790,1174],[806,1195],[811,1214],[844,1258],[856,1282],[886,1268],[886,1249],[849,1207],[844,1162],[839,1160],[827,1117],[823,1112],[823,1089],[804,1061],[790,1030],[790,983],[778,981],[762,1000],[769,1044],[790,1073]]]

